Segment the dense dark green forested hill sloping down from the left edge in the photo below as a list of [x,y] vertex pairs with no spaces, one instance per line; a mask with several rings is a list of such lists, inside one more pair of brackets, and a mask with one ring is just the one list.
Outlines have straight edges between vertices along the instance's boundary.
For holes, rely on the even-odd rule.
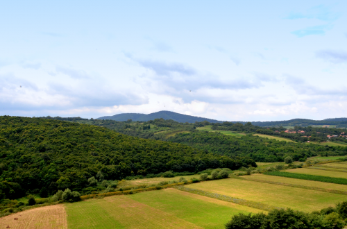
[[[164,171],[238,169],[255,164],[184,144],[139,139],[108,128],[54,119],[0,117],[0,201],[40,189],[86,192],[88,178],[107,180]],[[35,191],[36,190],[36,191]]]

